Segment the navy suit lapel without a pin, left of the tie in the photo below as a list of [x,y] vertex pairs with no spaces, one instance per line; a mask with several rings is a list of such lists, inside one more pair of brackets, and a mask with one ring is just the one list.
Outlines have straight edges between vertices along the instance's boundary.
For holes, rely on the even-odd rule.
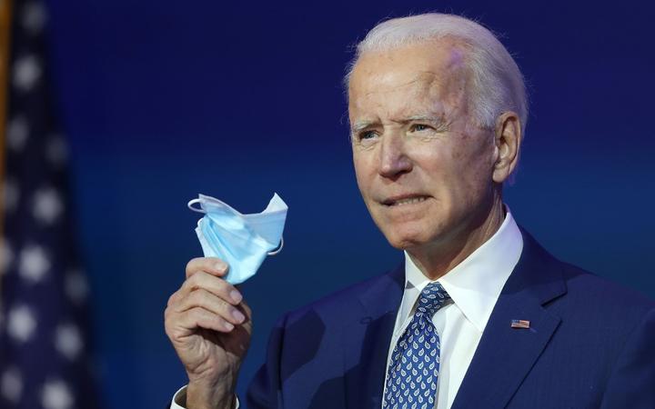
[[403,264],[382,276],[360,297],[362,310],[344,334],[348,408],[382,407],[388,347],[404,286]]

